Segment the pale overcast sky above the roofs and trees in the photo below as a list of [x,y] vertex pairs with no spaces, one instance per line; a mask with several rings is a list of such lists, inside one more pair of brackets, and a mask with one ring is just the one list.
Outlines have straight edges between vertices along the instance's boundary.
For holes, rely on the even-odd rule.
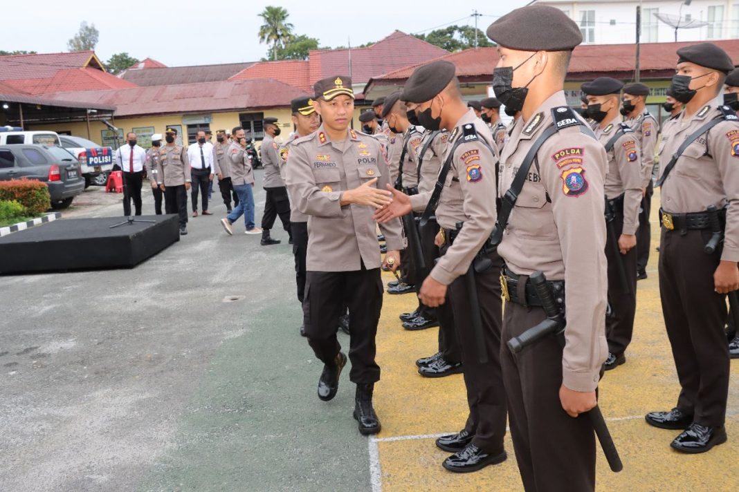
[[[3,9],[0,49],[67,51],[67,41],[80,22],[87,21],[100,31],[95,52],[103,61],[120,52],[168,66],[255,61],[268,50],[257,37],[262,24],[257,15],[267,5],[285,7],[296,34],[333,47],[346,46],[349,39],[352,46],[378,41],[396,29],[418,33],[451,24],[474,25],[474,9],[483,14],[478,27],[484,32],[495,18],[528,1],[35,0],[28,8]],[[222,7],[214,10],[218,5]]]

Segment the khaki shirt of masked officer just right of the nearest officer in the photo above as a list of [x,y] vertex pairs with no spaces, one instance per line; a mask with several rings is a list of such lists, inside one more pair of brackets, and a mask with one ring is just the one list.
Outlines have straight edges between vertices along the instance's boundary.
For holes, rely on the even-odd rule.
[[[604,146],[619,131],[621,117],[616,117],[604,128],[596,126],[595,133]],[[636,135],[621,134],[607,152],[608,168],[605,176],[605,195],[608,199],[624,195],[623,234],[635,235],[639,227],[639,207],[641,206],[641,163],[639,142]]]

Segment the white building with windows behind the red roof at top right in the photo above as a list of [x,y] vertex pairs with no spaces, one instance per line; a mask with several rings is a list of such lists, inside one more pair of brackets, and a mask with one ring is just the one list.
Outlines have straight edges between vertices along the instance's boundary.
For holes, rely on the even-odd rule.
[[[584,44],[636,42],[636,7],[640,5],[641,43],[739,38],[739,0],[534,0],[531,3],[551,5],[569,15],[579,24]],[[658,18],[658,14],[668,22]],[[689,28],[697,24],[701,27]]]

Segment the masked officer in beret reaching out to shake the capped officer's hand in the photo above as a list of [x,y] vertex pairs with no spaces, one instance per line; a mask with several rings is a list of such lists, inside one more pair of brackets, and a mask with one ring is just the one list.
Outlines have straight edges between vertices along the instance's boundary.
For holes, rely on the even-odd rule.
[[[427,192],[412,196],[393,190],[392,204],[375,216],[386,221],[413,210],[426,210],[424,216],[429,216],[435,207],[443,254],[423,281],[419,296],[433,308],[443,305],[449,294],[469,404],[465,428],[440,437],[436,444],[454,453],[444,460],[444,468],[467,472],[507,457],[503,448],[505,389],[500,372],[499,277],[503,262],[488,247],[497,217],[495,142],[483,120],[466,107],[454,72],[454,63],[446,60],[420,66],[401,96],[423,128],[451,131],[444,167],[437,178],[443,190],[440,195]],[[477,305],[471,301],[475,298]]]

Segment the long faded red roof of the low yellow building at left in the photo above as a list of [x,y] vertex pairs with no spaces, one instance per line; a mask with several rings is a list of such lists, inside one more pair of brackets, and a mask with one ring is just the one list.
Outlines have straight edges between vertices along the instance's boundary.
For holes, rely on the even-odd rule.
[[305,95],[305,91],[274,79],[49,94],[50,97],[75,100],[92,107],[95,104],[115,105],[118,108],[116,117],[279,108],[289,106],[290,100]]

